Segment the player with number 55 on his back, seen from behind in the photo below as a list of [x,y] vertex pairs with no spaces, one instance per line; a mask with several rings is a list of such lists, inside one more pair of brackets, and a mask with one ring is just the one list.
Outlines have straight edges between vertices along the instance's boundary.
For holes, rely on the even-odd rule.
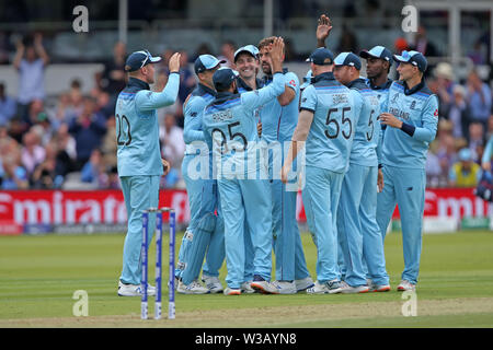
[[[317,281],[309,294],[340,293],[336,213],[341,186],[362,108],[358,92],[334,79],[334,57],[319,47],[308,59],[312,83],[301,95],[298,125],[293,133],[282,180],[287,183],[298,150],[306,150],[306,186],[302,190],[308,228],[317,246]],[[306,142],[305,142],[306,141]]]

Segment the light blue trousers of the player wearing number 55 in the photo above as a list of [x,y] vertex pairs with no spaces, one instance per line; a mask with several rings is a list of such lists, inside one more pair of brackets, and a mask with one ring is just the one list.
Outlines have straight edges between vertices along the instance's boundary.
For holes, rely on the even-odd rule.
[[308,229],[317,246],[317,279],[323,283],[340,278],[337,266],[337,206],[344,174],[306,166],[302,191]]

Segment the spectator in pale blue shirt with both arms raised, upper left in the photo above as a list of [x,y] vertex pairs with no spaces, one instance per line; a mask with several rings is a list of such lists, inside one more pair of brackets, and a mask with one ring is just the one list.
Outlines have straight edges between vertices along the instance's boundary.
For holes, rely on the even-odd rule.
[[[14,68],[19,71],[18,108],[21,118],[28,122],[27,110],[33,100],[45,98],[45,68],[49,57],[43,47],[43,37],[39,33],[34,35],[34,42],[25,45],[18,42],[13,60]],[[25,56],[25,58],[24,58]]]

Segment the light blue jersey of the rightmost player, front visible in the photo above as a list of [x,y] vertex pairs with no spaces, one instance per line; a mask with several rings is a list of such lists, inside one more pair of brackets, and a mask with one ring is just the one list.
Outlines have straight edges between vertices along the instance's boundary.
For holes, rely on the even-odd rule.
[[438,98],[424,80],[408,89],[403,81],[394,81],[382,112],[404,122],[402,129],[387,127],[382,143],[382,164],[425,168],[429,143],[435,139],[438,125]]

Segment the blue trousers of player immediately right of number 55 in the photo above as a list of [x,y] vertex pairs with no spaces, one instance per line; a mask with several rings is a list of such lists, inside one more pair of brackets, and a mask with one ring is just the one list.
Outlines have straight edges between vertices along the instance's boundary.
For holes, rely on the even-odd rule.
[[345,281],[365,285],[368,277],[376,284],[388,284],[383,243],[377,224],[377,166],[351,164],[337,209],[337,237],[345,266]]

